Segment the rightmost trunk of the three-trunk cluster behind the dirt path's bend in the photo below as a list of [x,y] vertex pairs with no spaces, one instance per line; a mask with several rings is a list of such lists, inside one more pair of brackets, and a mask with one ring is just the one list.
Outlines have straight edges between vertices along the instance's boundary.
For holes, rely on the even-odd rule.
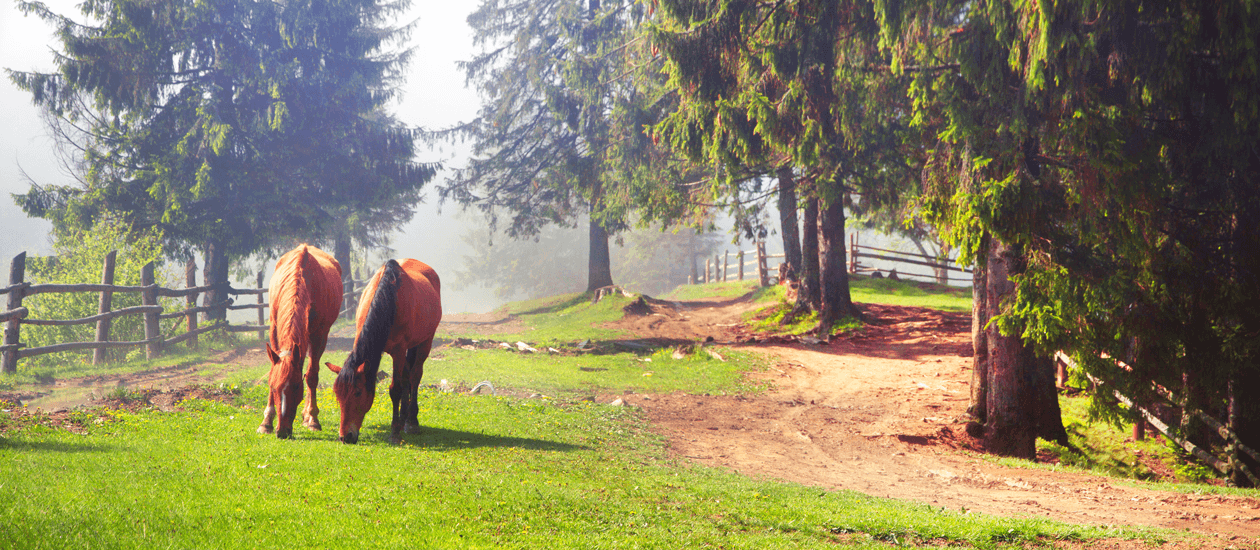
[[849,295],[849,266],[844,250],[844,200],[833,198],[820,209],[818,220],[819,279],[823,307],[818,316],[818,335],[830,336],[832,326],[844,317],[862,317]]

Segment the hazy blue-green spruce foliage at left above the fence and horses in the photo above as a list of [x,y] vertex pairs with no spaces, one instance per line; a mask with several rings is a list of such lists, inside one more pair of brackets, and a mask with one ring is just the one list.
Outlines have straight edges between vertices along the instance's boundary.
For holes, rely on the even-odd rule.
[[32,215],[91,227],[116,211],[169,250],[239,257],[336,220],[406,222],[435,172],[384,112],[408,53],[386,49],[407,29],[383,25],[406,3],[106,0],[83,23],[19,5],[57,26],[60,52],[57,72],[9,76],[82,160],[77,185],[18,198]]

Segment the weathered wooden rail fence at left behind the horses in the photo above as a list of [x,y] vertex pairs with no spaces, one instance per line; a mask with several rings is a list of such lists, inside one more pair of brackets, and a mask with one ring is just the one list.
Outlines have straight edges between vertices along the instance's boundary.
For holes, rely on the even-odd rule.
[[[145,355],[149,359],[152,359],[161,355],[163,349],[171,344],[188,341],[190,347],[197,347],[198,335],[205,332],[215,330],[228,332],[258,332],[260,337],[262,337],[268,328],[266,325],[268,303],[263,298],[263,295],[267,293],[267,288],[263,288],[262,286],[262,272],[258,272],[256,288],[233,288],[228,283],[197,286],[197,266],[192,259],[189,259],[184,269],[186,287],[175,289],[163,288],[155,284],[154,264],[149,263],[141,268],[140,286],[117,286],[113,284],[113,266],[116,255],[116,252],[106,254],[101,277],[102,282],[100,284],[32,284],[25,282],[26,253],[23,252],[13,258],[13,263],[9,268],[9,286],[0,288],[0,296],[8,296],[8,307],[5,311],[0,311],[0,322],[5,323],[4,345],[0,345],[0,373],[16,373],[19,359],[34,357],[58,351],[92,350],[92,364],[96,365],[106,361],[106,350],[110,349],[145,346]],[[345,308],[341,310],[343,316],[354,315],[355,297],[358,296],[357,289],[362,289],[363,284],[363,281],[354,281],[353,278],[345,282],[345,293],[343,300]],[[210,291],[222,291],[224,295],[233,295],[238,297],[256,296],[257,303],[236,305],[234,300],[227,298],[215,303],[197,306],[197,298]],[[28,318],[30,311],[26,307],[23,307],[23,300],[30,296],[52,292],[96,292],[100,295],[98,313],[73,320]],[[141,295],[142,305],[113,310],[112,298],[113,295],[118,292],[139,292]],[[158,298],[160,297],[184,297],[186,307],[179,311],[166,312],[159,303]],[[209,298],[209,295],[207,295],[207,298]],[[198,323],[198,315],[200,313],[219,312],[226,317],[226,313],[229,310],[257,310],[258,322],[257,325],[232,325],[227,320],[219,320],[208,326],[199,326]],[[111,341],[110,326],[112,320],[131,315],[144,316],[145,339],[121,342]],[[170,337],[163,336],[161,321],[180,318],[186,320],[184,332]],[[25,344],[21,344],[23,325],[72,326],[87,323],[96,323],[94,341],[53,344],[39,347],[26,347]],[[179,325],[173,325],[168,332],[173,332],[178,327]]]

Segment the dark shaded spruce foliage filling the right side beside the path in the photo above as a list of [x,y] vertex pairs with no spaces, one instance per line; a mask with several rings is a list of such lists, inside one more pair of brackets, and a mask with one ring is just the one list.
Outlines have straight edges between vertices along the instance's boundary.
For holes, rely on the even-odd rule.
[[[939,136],[934,220],[973,257],[992,235],[1024,258],[1003,331],[1139,399],[1155,383],[1223,412],[1260,381],[1260,10],[920,1],[879,19]],[[1260,439],[1260,409],[1236,413]]]

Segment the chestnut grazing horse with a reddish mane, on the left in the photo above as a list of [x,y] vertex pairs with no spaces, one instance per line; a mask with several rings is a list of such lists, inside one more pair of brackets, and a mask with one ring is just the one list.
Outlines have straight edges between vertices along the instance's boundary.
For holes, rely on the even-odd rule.
[[302,361],[310,352],[306,369],[306,409],[302,424],[320,429],[315,389],[319,386],[319,360],[328,345],[328,330],[341,311],[341,266],[326,252],[311,245],[299,245],[276,262],[271,276],[271,327],[267,357],[271,359],[267,409],[262,413],[258,433],[271,433],[272,420],[280,413],[276,437],[294,434],[294,417],[302,400]]

